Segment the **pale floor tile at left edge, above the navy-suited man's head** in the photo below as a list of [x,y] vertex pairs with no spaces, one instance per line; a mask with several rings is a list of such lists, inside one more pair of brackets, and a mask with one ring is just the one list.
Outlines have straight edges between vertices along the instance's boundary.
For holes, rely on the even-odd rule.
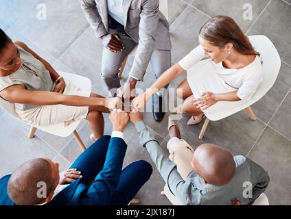
[[56,152],[37,136],[27,138],[27,126],[5,114],[0,119],[0,175],[13,172],[18,166],[36,157],[53,159]]

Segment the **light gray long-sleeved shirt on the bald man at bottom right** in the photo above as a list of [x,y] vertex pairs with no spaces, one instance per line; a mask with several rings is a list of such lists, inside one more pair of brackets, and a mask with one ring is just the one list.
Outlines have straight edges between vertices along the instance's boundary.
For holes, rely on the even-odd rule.
[[[226,185],[205,184],[202,178],[191,171],[184,180],[166,155],[159,142],[148,131],[145,123],[135,124],[139,132],[139,143],[145,146],[152,161],[159,170],[171,192],[183,205],[231,205],[233,200],[247,205],[264,192],[270,182],[268,172],[244,156],[235,156],[235,175]],[[247,185],[251,186],[251,196],[246,196]]]

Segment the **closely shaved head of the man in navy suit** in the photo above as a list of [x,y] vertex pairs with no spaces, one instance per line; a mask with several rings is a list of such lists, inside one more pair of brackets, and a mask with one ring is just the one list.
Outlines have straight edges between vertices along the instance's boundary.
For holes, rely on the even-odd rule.
[[[8,181],[8,196],[16,205],[39,205],[58,185],[57,166],[49,159],[32,159],[17,168]],[[46,197],[38,195],[40,182],[46,185]],[[39,197],[38,197],[39,196]]]

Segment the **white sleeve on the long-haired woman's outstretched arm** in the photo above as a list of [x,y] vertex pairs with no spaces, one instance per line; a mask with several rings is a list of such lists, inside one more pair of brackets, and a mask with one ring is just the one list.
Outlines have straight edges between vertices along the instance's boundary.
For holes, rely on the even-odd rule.
[[202,60],[202,58],[205,57],[204,49],[201,47],[201,45],[198,45],[195,49],[193,49],[188,55],[183,57],[178,64],[184,69],[188,70],[191,68],[191,66],[194,66],[194,64],[197,64]]

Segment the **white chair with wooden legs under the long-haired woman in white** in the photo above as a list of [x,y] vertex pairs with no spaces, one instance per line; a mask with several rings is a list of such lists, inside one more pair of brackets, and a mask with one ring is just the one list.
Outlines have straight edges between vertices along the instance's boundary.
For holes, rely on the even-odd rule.
[[199,139],[203,138],[205,130],[207,129],[207,125],[209,124],[209,120],[220,120],[222,118],[226,118],[227,116],[231,116],[232,114],[240,112],[241,110],[246,110],[251,120],[256,120],[255,114],[251,109],[251,105],[259,101],[259,99],[261,99],[275,83],[281,67],[281,59],[277,49],[266,36],[249,36],[249,39],[251,40],[251,43],[253,44],[255,50],[261,54],[264,73],[263,81],[259,85],[259,88],[257,88],[257,92],[255,92],[250,101],[244,103],[238,102],[236,107],[226,108],[225,110],[220,112],[205,112],[206,119],[200,131]]

